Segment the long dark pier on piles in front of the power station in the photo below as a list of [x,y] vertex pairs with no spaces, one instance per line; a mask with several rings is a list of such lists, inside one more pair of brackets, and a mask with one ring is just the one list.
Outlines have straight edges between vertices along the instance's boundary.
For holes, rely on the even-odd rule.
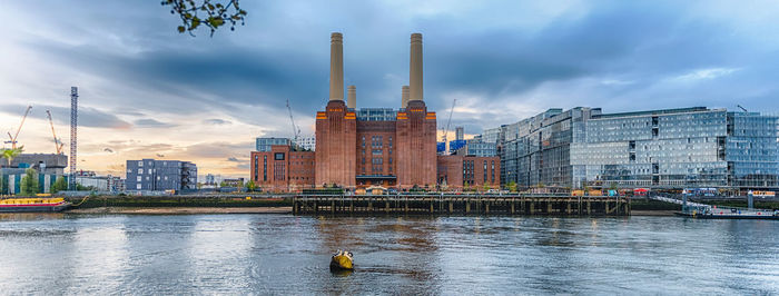
[[[376,205],[381,205],[376,207]],[[554,195],[298,195],[295,215],[628,216],[624,197]]]

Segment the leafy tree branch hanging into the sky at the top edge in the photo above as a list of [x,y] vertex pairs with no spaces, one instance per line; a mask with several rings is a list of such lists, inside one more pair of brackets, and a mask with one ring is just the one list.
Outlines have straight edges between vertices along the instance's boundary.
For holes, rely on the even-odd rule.
[[210,29],[211,37],[219,27],[227,23],[230,24],[230,31],[234,31],[238,22],[244,26],[244,18],[247,14],[246,10],[240,9],[238,0],[162,0],[161,4],[169,6],[170,14],[181,18],[178,32],[188,32],[193,37],[195,37],[193,31],[200,26]]

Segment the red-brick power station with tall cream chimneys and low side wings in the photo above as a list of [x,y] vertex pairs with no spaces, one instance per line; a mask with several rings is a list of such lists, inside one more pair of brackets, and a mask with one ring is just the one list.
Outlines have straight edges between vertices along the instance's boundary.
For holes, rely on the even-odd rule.
[[[268,190],[333,185],[407,190],[436,189],[450,178],[462,187],[470,176],[479,176],[471,185],[496,187],[496,157],[437,155],[436,116],[424,101],[421,33],[411,34],[410,56],[408,86],[401,88],[400,108],[357,109],[355,86],[347,88],[344,100],[343,36],[332,33],[329,100],[325,110],[316,112],[315,151],[288,139],[258,138],[252,152],[252,180]],[[491,165],[482,167],[482,162]],[[440,170],[440,164],[446,168]],[[489,177],[482,179],[482,175]]]

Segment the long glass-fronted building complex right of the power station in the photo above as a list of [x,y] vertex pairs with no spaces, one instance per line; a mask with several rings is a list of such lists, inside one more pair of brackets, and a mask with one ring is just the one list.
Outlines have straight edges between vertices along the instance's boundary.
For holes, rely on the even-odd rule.
[[503,182],[778,188],[779,117],[704,107],[551,109],[502,126]]

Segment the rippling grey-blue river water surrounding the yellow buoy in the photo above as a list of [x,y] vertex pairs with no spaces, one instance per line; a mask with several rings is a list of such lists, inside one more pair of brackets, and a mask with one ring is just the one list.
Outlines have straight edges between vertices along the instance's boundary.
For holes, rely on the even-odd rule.
[[8,293],[779,294],[779,221],[2,215]]

